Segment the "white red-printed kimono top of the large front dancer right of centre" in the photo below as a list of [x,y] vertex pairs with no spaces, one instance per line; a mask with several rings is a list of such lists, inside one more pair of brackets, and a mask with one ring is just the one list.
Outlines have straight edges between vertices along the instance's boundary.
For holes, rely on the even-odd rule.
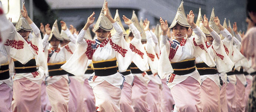
[[210,53],[207,51],[207,47],[203,40],[203,38],[206,38],[205,34],[199,29],[198,26],[193,29],[193,32],[195,32],[197,35],[187,39],[182,39],[181,43],[175,40],[168,41],[167,35],[161,36],[161,54],[158,63],[158,75],[161,79],[164,79],[167,75],[170,75],[168,81],[169,83],[167,84],[170,89],[176,84],[186,80],[189,76],[193,77],[200,84],[202,83],[197,70],[187,75],[172,74],[174,70],[172,69],[171,62],[179,62],[185,59],[200,57],[208,66],[215,66],[215,62],[212,58],[210,58]]

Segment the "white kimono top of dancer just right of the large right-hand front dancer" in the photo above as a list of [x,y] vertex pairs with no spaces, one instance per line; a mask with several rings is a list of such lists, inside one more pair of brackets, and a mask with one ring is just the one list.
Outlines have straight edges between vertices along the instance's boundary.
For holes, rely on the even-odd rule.
[[[214,40],[213,40],[212,44],[206,42],[206,47],[208,48],[207,50],[210,53],[211,57],[215,60],[216,68],[217,68],[218,72],[226,73],[226,72],[232,71],[234,63],[231,61],[231,59],[226,54],[223,43],[220,40],[220,36],[214,30],[212,32],[210,32],[210,35],[213,37]],[[200,59],[200,57],[196,58],[196,63],[200,63],[200,62],[202,62],[202,59]],[[216,75],[202,75],[201,76],[202,81],[207,78],[211,79],[219,87],[221,87],[219,75],[216,74]]]

